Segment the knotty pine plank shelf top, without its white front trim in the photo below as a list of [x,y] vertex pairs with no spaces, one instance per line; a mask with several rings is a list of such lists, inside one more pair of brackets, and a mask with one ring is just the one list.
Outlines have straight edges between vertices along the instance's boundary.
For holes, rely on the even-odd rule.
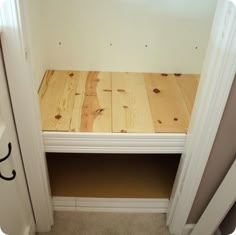
[[186,133],[199,75],[47,71],[43,131]]

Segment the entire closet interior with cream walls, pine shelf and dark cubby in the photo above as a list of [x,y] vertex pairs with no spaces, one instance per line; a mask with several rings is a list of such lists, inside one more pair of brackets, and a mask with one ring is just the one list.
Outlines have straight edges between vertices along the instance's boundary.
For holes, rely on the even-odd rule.
[[54,197],[170,198],[215,6],[29,1]]

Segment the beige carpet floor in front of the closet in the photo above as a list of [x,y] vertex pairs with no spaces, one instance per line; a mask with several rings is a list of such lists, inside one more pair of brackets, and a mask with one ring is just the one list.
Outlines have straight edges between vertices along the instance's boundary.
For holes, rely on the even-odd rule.
[[164,214],[55,212],[54,226],[39,235],[170,235]]

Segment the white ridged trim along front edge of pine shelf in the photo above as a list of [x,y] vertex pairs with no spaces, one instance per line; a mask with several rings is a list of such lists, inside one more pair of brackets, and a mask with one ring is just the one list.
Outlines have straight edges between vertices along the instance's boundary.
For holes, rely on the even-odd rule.
[[46,152],[182,153],[185,133],[42,132]]

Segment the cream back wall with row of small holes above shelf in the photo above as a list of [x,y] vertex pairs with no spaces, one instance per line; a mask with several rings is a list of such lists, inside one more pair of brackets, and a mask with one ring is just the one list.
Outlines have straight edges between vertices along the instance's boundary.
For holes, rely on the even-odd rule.
[[48,69],[200,73],[216,0],[41,0]]

